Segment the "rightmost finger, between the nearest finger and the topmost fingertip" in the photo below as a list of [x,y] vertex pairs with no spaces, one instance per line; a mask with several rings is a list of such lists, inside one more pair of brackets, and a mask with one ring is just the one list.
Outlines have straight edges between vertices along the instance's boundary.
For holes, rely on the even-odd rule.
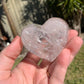
[[80,50],[82,44],[83,44],[83,40],[80,37],[78,37],[78,36],[76,36],[75,38],[73,38],[67,44],[66,48],[69,49],[70,52],[71,52],[70,63],[74,59],[74,57],[77,54],[77,52]]

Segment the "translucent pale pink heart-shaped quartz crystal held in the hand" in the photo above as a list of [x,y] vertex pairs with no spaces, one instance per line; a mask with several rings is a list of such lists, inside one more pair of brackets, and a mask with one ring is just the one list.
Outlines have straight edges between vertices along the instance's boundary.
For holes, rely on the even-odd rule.
[[54,61],[66,46],[68,24],[60,18],[51,18],[43,25],[31,24],[22,31],[21,39],[31,53]]

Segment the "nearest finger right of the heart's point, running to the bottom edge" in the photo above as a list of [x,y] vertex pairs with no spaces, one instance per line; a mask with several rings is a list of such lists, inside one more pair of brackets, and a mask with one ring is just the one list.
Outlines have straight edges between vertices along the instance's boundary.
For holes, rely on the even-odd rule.
[[63,84],[67,67],[69,65],[70,51],[64,49],[56,59],[56,65],[50,77],[50,84]]

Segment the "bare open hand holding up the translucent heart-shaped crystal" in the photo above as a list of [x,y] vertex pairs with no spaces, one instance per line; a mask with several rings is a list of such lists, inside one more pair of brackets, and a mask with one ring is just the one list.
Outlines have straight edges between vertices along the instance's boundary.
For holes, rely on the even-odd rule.
[[22,50],[21,38],[17,36],[12,43],[0,53],[0,84],[63,84],[66,71],[83,41],[75,30],[69,30],[68,43],[52,63],[28,53],[11,71],[15,59]]

